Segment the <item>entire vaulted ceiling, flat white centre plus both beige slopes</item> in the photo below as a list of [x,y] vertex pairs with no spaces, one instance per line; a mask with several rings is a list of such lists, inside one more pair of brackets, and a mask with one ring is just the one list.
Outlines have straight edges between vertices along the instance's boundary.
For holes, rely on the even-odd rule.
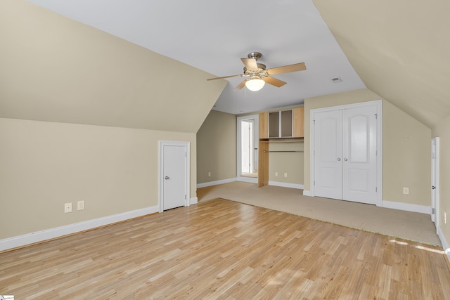
[[[0,117],[195,132],[212,105],[255,112],[364,87],[430,127],[450,115],[447,0],[30,2],[0,4]],[[258,92],[206,81],[240,74],[252,51],[307,70]]]

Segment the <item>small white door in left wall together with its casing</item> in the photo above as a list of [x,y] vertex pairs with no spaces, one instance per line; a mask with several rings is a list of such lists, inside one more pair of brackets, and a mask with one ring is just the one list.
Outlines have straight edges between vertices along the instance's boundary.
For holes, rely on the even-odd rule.
[[160,212],[189,205],[190,143],[160,141]]

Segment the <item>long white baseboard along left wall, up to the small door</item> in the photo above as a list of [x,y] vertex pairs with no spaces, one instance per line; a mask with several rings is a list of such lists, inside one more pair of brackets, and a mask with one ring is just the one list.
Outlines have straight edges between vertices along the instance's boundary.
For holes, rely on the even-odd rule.
[[63,235],[70,235],[72,233],[79,233],[84,230],[89,230],[128,219],[133,219],[138,216],[145,216],[146,214],[154,214],[159,211],[159,207],[146,207],[144,209],[136,209],[134,211],[127,211],[122,214],[115,214],[113,216],[104,216],[102,218],[73,223],[66,226],[60,226],[47,230],[37,231],[35,233],[27,233],[25,235],[18,235],[15,237],[8,237],[0,240],[0,251],[13,249],[15,247],[25,246],[26,244],[33,244],[35,242],[42,242],[50,240],[55,237],[62,237]]

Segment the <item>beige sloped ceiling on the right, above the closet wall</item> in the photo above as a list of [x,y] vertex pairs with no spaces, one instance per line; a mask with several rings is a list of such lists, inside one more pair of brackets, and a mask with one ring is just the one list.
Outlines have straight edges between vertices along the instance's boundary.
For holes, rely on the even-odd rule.
[[368,89],[429,127],[450,115],[450,1],[314,4]]

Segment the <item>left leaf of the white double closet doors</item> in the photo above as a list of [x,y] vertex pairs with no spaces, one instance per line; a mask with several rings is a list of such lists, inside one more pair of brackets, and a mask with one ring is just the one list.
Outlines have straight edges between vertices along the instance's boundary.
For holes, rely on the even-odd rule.
[[342,200],[342,111],[314,119],[314,195]]

